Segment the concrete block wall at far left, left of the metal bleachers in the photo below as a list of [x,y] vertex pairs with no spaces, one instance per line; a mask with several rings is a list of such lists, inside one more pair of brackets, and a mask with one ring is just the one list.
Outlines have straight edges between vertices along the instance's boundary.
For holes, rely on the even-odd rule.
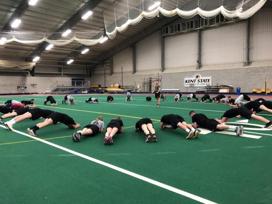
[[[73,77],[76,78],[76,77]],[[41,76],[0,76],[0,94],[44,92],[57,80],[71,80],[71,77],[41,77]],[[89,78],[85,78],[89,80]],[[30,84],[37,84],[32,86]],[[17,90],[17,86],[27,86],[27,89]]]

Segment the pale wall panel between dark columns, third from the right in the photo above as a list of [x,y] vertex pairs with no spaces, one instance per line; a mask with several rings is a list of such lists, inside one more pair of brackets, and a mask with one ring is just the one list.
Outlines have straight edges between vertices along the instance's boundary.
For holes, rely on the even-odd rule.
[[176,34],[164,40],[165,68],[196,66],[197,33]]

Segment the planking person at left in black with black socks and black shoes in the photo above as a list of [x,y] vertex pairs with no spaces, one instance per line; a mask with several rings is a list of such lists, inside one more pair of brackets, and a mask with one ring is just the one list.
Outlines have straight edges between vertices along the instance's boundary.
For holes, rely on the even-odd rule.
[[36,135],[36,131],[46,127],[47,125],[51,125],[51,124],[58,124],[58,123],[63,123],[64,125],[67,125],[68,128],[79,128],[80,125],[79,123],[75,123],[74,119],[71,118],[70,116],[64,114],[64,113],[59,113],[59,112],[53,112],[50,115],[48,115],[48,117],[45,119],[44,122],[38,123],[37,125],[28,128],[28,133],[32,136],[37,136]]

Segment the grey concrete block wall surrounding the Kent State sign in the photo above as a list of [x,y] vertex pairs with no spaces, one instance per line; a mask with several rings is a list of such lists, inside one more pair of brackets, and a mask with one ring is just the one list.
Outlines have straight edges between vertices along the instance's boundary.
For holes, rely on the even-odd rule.
[[[241,92],[252,92],[254,88],[265,88],[265,77],[268,77],[267,88],[272,89],[272,66],[264,67],[240,67],[221,70],[194,70],[187,72],[162,73],[162,89],[180,89],[180,92],[196,92],[197,87],[184,87],[184,77],[193,76],[196,73],[202,76],[212,76],[212,85],[232,85],[233,92],[240,87]],[[150,71],[152,73],[152,70]],[[120,76],[117,76],[120,75]],[[123,73],[123,85],[142,84],[144,75],[132,75]],[[91,77],[91,84],[100,84],[104,86],[104,75],[95,75]],[[114,73],[114,76],[106,75],[106,86],[110,87],[112,83],[121,84],[121,73]],[[204,90],[202,87],[199,90]]]

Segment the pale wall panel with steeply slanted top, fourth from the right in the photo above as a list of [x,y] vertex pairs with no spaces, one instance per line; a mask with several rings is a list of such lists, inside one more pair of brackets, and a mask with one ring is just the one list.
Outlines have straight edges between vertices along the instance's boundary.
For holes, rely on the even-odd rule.
[[160,29],[136,43],[136,70],[160,69]]

